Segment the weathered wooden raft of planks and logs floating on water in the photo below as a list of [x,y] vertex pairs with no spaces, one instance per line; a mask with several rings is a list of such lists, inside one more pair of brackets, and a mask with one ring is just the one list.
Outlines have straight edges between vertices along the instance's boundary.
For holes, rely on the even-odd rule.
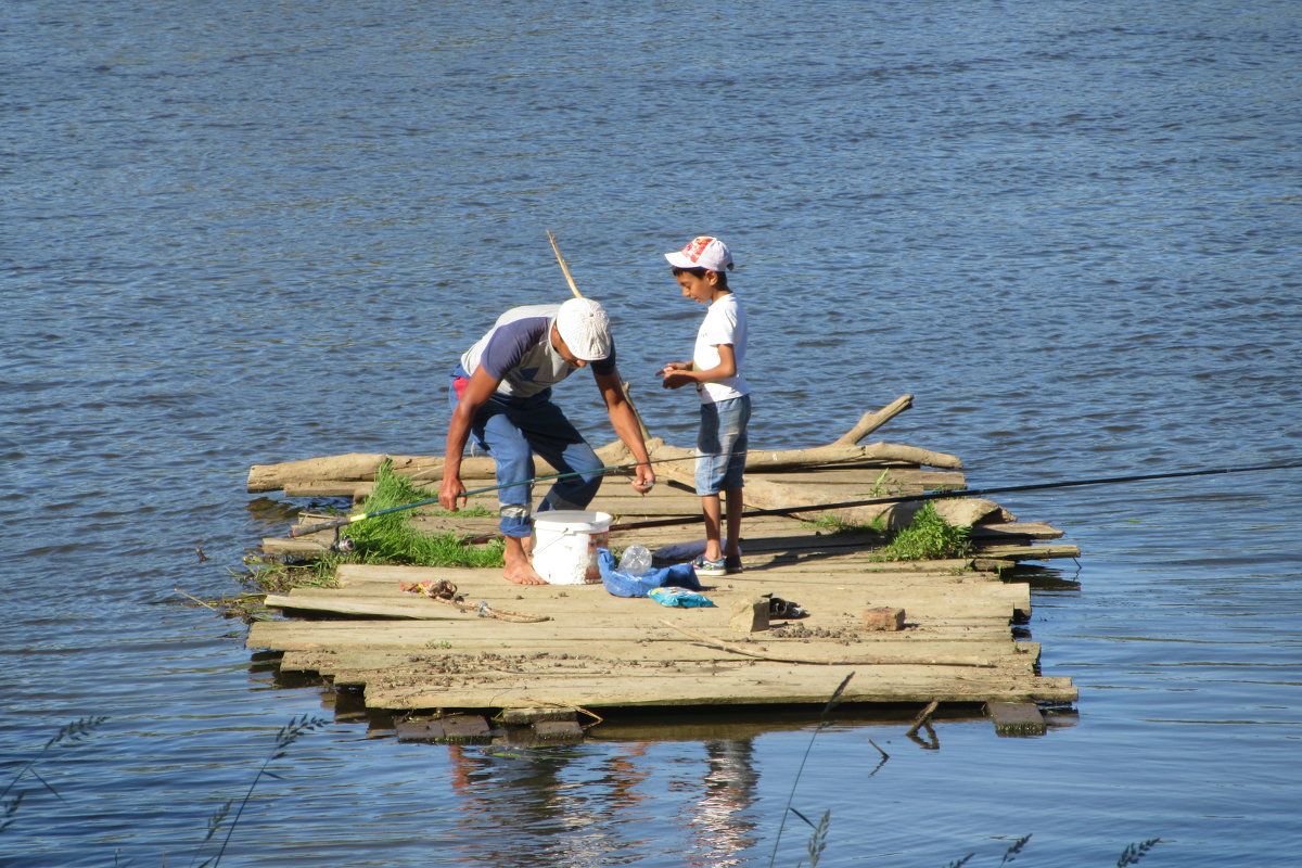
[[[1053,543],[1061,531],[1018,522],[990,501],[935,501],[950,523],[971,526],[976,554],[962,561],[880,563],[871,557],[880,536],[819,527],[807,521],[818,511],[796,511],[805,505],[963,488],[962,463],[953,455],[883,442],[857,445],[910,401],[904,396],[866,414],[827,446],[749,455],[746,508],[790,511],[743,522],[745,573],[702,578],[711,608],[616,597],[602,584],[516,586],[500,570],[344,565],[337,588],[268,596],[267,605],[289,618],[254,623],[247,647],[284,652],[283,670],[315,671],[336,686],[362,688],[367,707],[392,712],[796,704],[811,707],[812,713],[850,673],[842,701],[921,704],[928,713],[932,703],[984,704],[996,726],[1008,709],[1038,716],[1038,703],[1074,703],[1069,678],[1038,674],[1039,645],[1014,640],[1012,623],[1030,613],[1029,586],[1000,578],[1022,560],[1078,557],[1077,547]],[[655,459],[687,453],[659,440],[650,440],[648,448]],[[605,463],[618,465],[628,461],[621,449],[612,444],[598,452]],[[436,495],[440,458],[367,454],[255,466],[249,491],[346,495],[361,501],[385,459],[430,485],[431,497]],[[660,484],[646,496],[612,475],[590,509],[609,513],[615,524],[699,519],[691,470],[690,461],[658,463]],[[551,470],[539,466],[538,472]],[[491,474],[488,459],[469,458],[462,465],[464,479],[491,479]],[[477,505],[496,511],[495,493],[473,497],[470,506]],[[829,515],[902,527],[919,506]],[[495,534],[497,519],[417,514],[414,523],[427,532],[474,537]],[[674,545],[681,552],[703,545],[700,537],[698,522],[613,531],[609,545],[615,550],[633,543],[652,550]],[[331,532],[266,539],[263,550],[311,557],[332,541]],[[453,583],[460,605],[402,590],[430,579]],[[794,601],[807,616],[772,618],[763,629],[755,613],[767,614],[766,595]]]

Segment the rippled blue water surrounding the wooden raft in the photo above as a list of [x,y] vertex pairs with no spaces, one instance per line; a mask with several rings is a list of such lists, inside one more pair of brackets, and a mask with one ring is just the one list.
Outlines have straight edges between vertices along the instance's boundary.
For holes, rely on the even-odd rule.
[[[1083,552],[1032,576],[1081,691],[1036,739],[398,743],[178,593],[238,592],[283,531],[251,465],[441,452],[448,360],[566,297],[547,229],[672,442],[654,371],[699,310],[660,254],[708,232],[760,446],[913,393],[879,436],[978,487],[1298,459],[1295,3],[9,0],[0,29],[0,863],[211,859],[302,716],[220,864],[809,864],[789,800],[831,812],[822,865],[1026,834],[1025,865],[1295,861],[1297,470],[1000,498]],[[560,394],[605,442],[595,397]]]

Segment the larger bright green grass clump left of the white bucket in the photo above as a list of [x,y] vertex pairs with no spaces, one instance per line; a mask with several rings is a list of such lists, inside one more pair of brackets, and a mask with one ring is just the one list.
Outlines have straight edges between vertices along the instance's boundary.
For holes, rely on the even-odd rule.
[[[385,462],[375,476],[375,488],[361,511],[375,513],[430,500],[427,489],[417,488],[410,479],[395,474]],[[340,531],[355,544],[354,550],[322,561],[329,569],[339,563],[408,563],[414,566],[503,566],[503,544],[462,545],[454,534],[422,534],[411,526],[415,510],[376,515]],[[464,515],[465,513],[457,513]]]

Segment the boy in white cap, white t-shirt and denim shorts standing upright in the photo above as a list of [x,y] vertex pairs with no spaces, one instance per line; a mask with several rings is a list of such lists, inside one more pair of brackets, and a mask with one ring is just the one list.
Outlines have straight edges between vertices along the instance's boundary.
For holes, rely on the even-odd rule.
[[[684,297],[710,306],[697,332],[691,362],[671,362],[660,371],[664,388],[691,383],[700,396],[695,481],[706,518],[706,550],[691,566],[700,575],[741,573],[742,472],[750,423],[750,385],[741,373],[746,362],[746,311],[728,288],[733,259],[719,238],[699,236],[664,258]],[[728,498],[727,544],[720,540],[720,492]]]

